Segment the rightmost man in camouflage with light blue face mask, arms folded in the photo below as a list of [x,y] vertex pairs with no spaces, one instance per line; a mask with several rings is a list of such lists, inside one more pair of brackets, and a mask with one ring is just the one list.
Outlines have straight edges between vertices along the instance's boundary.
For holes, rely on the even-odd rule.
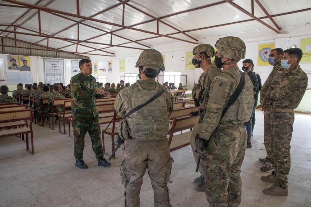
[[[301,70],[299,61],[302,58],[300,48],[284,51],[281,66],[287,69],[281,83],[268,91],[267,102],[271,102],[272,122],[272,156],[275,170],[261,179],[274,184],[263,190],[270,196],[287,196],[287,176],[290,171],[290,140],[293,132],[294,109],[299,105],[308,86],[307,74]],[[273,80],[272,80],[273,81]],[[269,103],[270,104],[270,103]]]

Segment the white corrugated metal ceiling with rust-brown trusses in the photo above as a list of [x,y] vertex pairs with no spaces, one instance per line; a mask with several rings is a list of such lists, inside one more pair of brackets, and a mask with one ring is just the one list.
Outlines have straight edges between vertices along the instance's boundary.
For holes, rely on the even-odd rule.
[[[245,14],[242,8],[249,13]],[[252,10],[253,17],[261,20],[252,19],[249,15]],[[286,12],[289,13],[274,16]],[[15,38],[15,26],[17,40],[37,47],[58,49],[70,55],[112,56],[157,44],[178,41],[196,44],[198,39],[220,35],[258,30],[285,33],[283,27],[310,22],[311,1],[0,0],[0,19],[0,35],[10,40]]]

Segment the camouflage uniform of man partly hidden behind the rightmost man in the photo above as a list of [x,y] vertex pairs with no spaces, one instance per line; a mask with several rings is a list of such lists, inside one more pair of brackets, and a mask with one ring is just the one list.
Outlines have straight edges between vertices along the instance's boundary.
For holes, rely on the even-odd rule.
[[[263,84],[260,91],[260,103],[262,107],[265,107],[266,110],[263,111],[264,116],[264,145],[267,151],[266,159],[269,163],[275,165],[274,159],[272,157],[271,145],[272,145],[272,122],[271,122],[271,107],[272,103],[267,102],[270,100],[270,97],[266,97],[268,91],[273,91],[283,78],[283,75],[286,73],[286,69],[281,66],[281,64],[275,65],[269,74],[266,82]],[[273,82],[272,82],[273,80]],[[272,84],[273,83],[273,84]],[[269,93],[268,93],[269,94]]]

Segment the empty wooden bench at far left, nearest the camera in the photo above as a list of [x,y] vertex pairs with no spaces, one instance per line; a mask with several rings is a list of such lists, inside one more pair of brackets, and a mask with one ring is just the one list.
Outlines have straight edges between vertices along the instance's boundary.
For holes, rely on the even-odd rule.
[[[14,128],[17,127],[16,122],[23,121],[26,123],[25,127]],[[31,109],[23,109],[23,110],[13,110],[13,111],[2,111],[0,116],[0,124],[7,124],[7,130],[0,131],[0,137],[10,137],[15,135],[23,135],[26,134],[26,149],[31,154],[35,154],[34,152],[34,139],[33,139],[33,131],[32,131],[32,110]],[[31,140],[31,151],[29,150],[29,134]]]

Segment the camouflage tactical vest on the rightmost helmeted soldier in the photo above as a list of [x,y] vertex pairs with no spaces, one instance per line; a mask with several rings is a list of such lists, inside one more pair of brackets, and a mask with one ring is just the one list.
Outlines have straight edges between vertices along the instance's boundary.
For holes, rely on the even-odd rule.
[[[240,81],[240,73],[237,74],[231,72],[231,71],[225,71],[226,73],[230,73],[234,79],[236,80],[238,85]],[[239,74],[239,75],[238,75]],[[240,93],[238,99],[234,102],[232,106],[228,109],[224,117],[221,119],[221,122],[230,121],[233,124],[239,124],[248,122],[250,119],[250,116],[253,113],[253,107],[254,107],[254,90],[253,90],[253,83],[249,79],[248,75],[245,74],[245,84],[242,92]],[[236,87],[235,87],[236,88]],[[235,90],[235,89],[234,89]],[[232,95],[234,91],[230,91],[230,96]],[[228,97],[229,99],[229,97]],[[226,100],[226,103],[227,104]]]

